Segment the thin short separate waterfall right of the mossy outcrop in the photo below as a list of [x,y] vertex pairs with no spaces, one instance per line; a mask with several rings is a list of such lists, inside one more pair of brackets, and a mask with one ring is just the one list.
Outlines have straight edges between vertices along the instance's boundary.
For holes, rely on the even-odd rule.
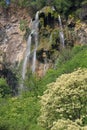
[[59,21],[59,26],[60,26],[60,32],[59,32],[59,35],[60,35],[60,41],[63,45],[63,47],[65,46],[65,43],[64,43],[64,33],[63,33],[63,27],[62,27],[62,22],[61,22],[61,17],[60,15],[58,15],[58,21]]

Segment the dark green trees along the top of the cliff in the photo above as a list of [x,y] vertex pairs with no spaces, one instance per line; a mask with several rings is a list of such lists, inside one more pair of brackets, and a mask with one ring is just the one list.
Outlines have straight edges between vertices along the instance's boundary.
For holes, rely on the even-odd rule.
[[[20,7],[30,8],[34,13],[44,6],[54,6],[59,13],[68,15],[70,13],[78,14],[81,7],[87,4],[86,0],[12,0],[13,4]],[[0,5],[6,6],[5,1],[1,0]]]

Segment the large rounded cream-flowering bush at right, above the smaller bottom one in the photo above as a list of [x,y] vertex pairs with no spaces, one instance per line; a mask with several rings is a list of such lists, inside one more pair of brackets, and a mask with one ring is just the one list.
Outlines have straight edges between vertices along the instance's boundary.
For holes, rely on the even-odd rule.
[[39,124],[51,129],[59,119],[87,124],[87,69],[61,75],[41,97]]

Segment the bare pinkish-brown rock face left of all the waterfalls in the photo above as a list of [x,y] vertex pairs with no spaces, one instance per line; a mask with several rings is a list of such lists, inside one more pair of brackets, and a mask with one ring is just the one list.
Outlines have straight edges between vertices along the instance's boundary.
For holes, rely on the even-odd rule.
[[20,30],[20,21],[30,21],[26,10],[12,9],[9,10],[8,16],[0,10],[0,52],[5,55],[7,62],[15,64],[20,63],[26,49],[26,41],[24,40],[24,32]]

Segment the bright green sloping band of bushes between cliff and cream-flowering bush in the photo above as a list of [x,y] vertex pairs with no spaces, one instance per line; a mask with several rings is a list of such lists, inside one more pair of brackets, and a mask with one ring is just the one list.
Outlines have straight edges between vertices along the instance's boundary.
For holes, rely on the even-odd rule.
[[46,90],[47,84],[54,82],[57,77],[64,73],[73,72],[77,68],[87,68],[87,46],[75,46],[64,49],[55,64],[55,69],[49,69],[46,75],[39,81],[42,92]]

